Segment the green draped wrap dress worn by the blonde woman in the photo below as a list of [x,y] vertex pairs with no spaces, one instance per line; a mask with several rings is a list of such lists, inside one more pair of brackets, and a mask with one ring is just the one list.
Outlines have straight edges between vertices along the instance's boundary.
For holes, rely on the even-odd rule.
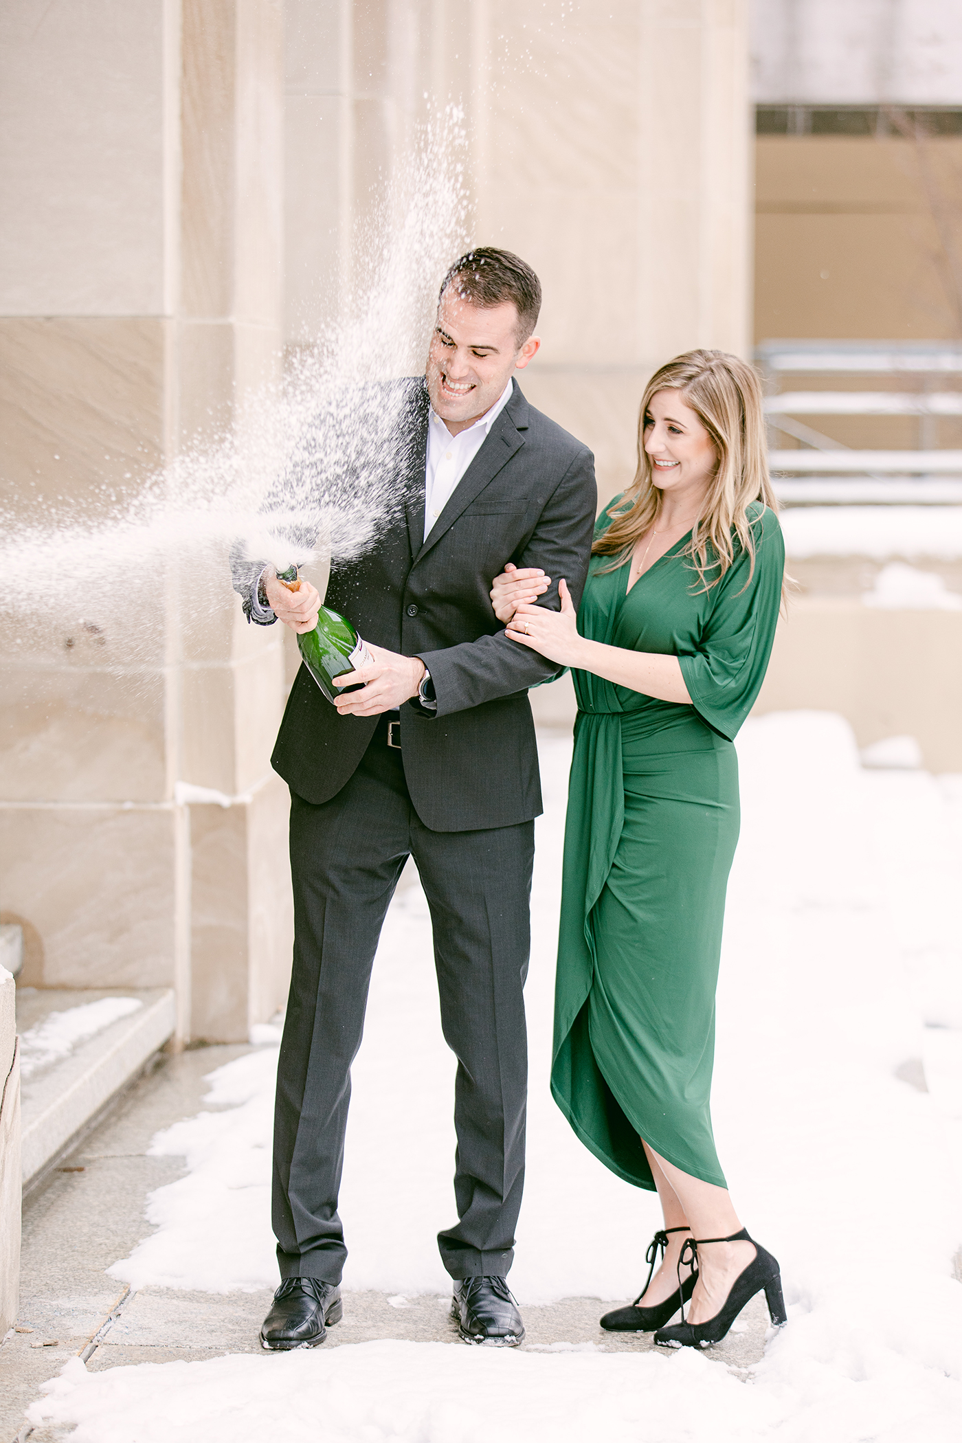
[[750,580],[740,553],[705,593],[682,537],[627,595],[629,564],[604,571],[612,558],[593,557],[578,612],[583,636],[676,655],[694,703],[574,672],[551,1091],[586,1147],[639,1188],[655,1186],[640,1137],[725,1186],[710,1092],[738,840],[733,737],[764,678],[785,569],[760,502],[753,530]]

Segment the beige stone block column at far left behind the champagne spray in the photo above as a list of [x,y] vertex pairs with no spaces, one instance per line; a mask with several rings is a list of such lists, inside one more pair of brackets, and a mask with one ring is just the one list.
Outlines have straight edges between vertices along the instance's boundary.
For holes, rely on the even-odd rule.
[[[281,10],[13,0],[3,30],[3,479],[23,521],[37,495],[97,518],[277,364]],[[114,602],[91,586],[3,628],[22,980],[175,984],[182,1042],[242,1038],[290,960],[281,639],[176,557],[143,615]]]

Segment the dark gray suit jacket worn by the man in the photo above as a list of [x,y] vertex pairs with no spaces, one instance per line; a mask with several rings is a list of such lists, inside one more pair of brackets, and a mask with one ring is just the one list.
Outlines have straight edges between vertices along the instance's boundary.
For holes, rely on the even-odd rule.
[[[551,577],[541,605],[558,608],[564,577],[575,606],[594,525],[594,457],[542,416],[515,381],[508,405],[424,540],[428,398],[405,382],[410,426],[400,446],[401,518],[363,556],[335,564],[325,605],[350,618],[365,641],[421,657],[437,711],[401,707],[401,746],[411,801],[433,831],[473,831],[529,821],[541,784],[528,687],[558,667],[508,641],[490,606],[506,561]],[[261,563],[235,564],[245,597]],[[291,791],[326,802],[355,772],[375,717],[342,717],[301,667],[271,762]]]

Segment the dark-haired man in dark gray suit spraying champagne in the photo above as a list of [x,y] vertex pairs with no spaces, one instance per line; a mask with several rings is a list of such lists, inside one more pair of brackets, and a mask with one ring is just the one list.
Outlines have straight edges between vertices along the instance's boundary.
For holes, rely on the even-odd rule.
[[[274,1231],[283,1283],[268,1349],[314,1346],[342,1316],[337,1216],[350,1063],[381,925],[411,854],[434,932],[454,1085],[459,1221],[438,1235],[466,1342],[524,1338],[508,1290],[525,1150],[534,818],[541,812],[528,687],[552,662],[506,639],[489,589],[508,561],[542,567],[558,606],[581,595],[594,522],[591,453],[516,381],[539,348],[538,277],[483,248],[444,278],[425,380],[405,382],[394,459],[400,519],[333,564],[326,605],[374,662],[339,678],[336,707],[301,667],[273,765],[291,789],[294,968],[274,1123]],[[391,465],[391,460],[385,462]],[[235,586],[248,616],[314,626],[307,583],[257,563]],[[385,1192],[389,1229],[389,1192]]]

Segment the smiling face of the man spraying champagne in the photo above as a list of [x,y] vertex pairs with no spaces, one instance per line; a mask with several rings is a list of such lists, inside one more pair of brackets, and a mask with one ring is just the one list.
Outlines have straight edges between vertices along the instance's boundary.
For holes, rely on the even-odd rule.
[[425,372],[431,405],[449,431],[457,436],[489,411],[512,372],[524,369],[539,345],[531,336],[518,346],[513,302],[472,306],[449,286],[437,309]]

